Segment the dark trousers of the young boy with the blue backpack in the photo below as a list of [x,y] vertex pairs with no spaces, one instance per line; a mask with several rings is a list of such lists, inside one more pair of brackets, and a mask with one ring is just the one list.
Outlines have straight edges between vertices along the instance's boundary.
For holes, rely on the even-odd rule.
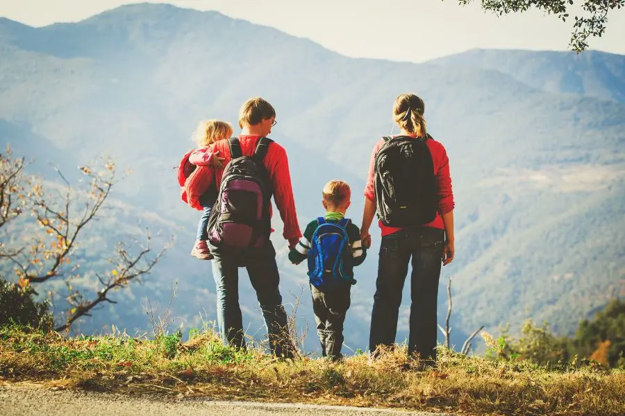
[[317,335],[322,344],[322,355],[333,360],[341,358],[343,346],[343,323],[349,309],[350,285],[331,291],[319,291],[312,284],[313,313],[317,323]]

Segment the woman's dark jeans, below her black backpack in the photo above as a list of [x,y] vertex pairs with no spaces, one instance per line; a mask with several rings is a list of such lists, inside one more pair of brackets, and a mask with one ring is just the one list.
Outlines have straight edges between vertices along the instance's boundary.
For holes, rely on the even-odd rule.
[[369,349],[392,345],[403,283],[412,258],[410,278],[410,335],[408,354],[436,361],[436,304],[444,231],[432,227],[404,229],[385,236],[380,247],[376,294],[371,317]]

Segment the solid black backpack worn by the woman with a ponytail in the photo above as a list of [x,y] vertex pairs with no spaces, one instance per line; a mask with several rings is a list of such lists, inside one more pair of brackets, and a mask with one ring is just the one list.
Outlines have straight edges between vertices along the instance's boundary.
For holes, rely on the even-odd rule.
[[387,227],[431,223],[438,211],[438,187],[432,154],[424,139],[383,137],[375,159],[378,217]]

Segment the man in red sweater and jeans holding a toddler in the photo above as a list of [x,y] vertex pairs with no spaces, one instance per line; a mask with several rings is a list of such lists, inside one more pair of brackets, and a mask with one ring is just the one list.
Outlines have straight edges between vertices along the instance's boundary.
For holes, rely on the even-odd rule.
[[[242,156],[251,157],[255,154],[260,139],[267,137],[272,132],[272,127],[276,125],[276,111],[263,98],[251,98],[241,107],[239,125],[242,131],[237,138],[238,141],[235,140],[234,143],[238,142]],[[218,141],[213,146],[213,154],[223,157],[223,166],[226,166],[233,159],[231,155],[232,145],[233,139]],[[273,141],[270,141],[265,147],[266,153],[260,159],[262,159],[266,172],[259,176],[268,173],[266,180],[270,182],[269,195],[273,193],[276,207],[278,207],[284,223],[283,236],[289,242],[289,247],[293,247],[299,241],[301,232],[297,222],[288,158],[284,148]],[[237,152],[239,152],[238,148]],[[263,166],[261,166],[262,168]],[[216,167],[214,169],[215,183],[219,189],[224,168]],[[212,170],[213,168],[210,167],[209,171]],[[245,347],[238,286],[238,268],[245,267],[265,318],[267,333],[269,334],[269,346],[276,356],[290,357],[292,356],[292,348],[285,339],[287,318],[282,306],[282,296],[278,290],[280,275],[276,264],[276,251],[269,241],[269,232],[272,231],[269,223],[271,217],[270,200],[267,200],[266,204],[268,205],[268,214],[263,217],[264,224],[262,227],[267,232],[264,234],[261,232],[260,238],[257,236],[256,239],[253,239],[249,248],[232,248],[229,244],[223,244],[223,241],[217,243],[215,239],[209,237],[208,245],[214,256],[213,277],[217,285],[217,322],[222,337],[229,345]]]

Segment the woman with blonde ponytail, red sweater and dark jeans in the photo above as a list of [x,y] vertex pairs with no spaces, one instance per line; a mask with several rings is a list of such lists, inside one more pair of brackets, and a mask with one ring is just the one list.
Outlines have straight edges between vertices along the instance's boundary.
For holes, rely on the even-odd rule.
[[[454,203],[447,152],[442,144],[427,134],[424,110],[424,102],[415,94],[401,94],[395,99],[393,118],[401,129],[400,135],[392,140],[381,139],[374,146],[365,187],[365,212],[360,237],[365,246],[371,244],[369,227],[377,210],[381,218],[382,243],[369,349],[376,356],[378,346],[392,345],[395,342],[401,292],[408,274],[408,263],[412,259],[408,354],[412,356],[418,353],[424,363],[433,365],[436,361],[436,305],[440,268],[441,263],[447,265],[453,260]],[[391,150],[385,148],[390,146],[389,141],[393,141],[403,150],[395,156],[390,155]],[[409,148],[408,152],[406,146]],[[381,149],[385,153],[385,158],[377,157]],[[420,160],[413,156],[419,154],[424,155]],[[385,159],[394,160],[392,157],[406,155],[410,155],[412,159],[408,157],[391,164],[385,163]],[[401,190],[401,183],[395,182],[392,190],[387,192],[383,181],[387,180],[389,175],[392,176],[393,166],[401,163],[414,165],[408,166],[408,170],[403,166],[403,170],[396,173],[395,180],[399,182],[403,180],[404,188]],[[427,198],[423,197],[427,194],[428,187],[422,182],[429,180],[430,163],[433,165],[434,174],[430,175],[433,184],[431,187],[433,198],[430,199],[434,201],[434,207],[430,210],[431,214],[428,214]],[[424,166],[428,168],[423,174],[406,174],[412,172],[410,168],[415,172],[423,172]],[[419,168],[422,170],[419,171]],[[407,175],[411,176],[408,180]],[[376,189],[380,196],[376,195]],[[398,195],[401,192],[408,195]],[[402,205],[393,198],[412,202]],[[398,205],[393,209],[394,203]],[[410,226],[406,226],[408,223]]]

